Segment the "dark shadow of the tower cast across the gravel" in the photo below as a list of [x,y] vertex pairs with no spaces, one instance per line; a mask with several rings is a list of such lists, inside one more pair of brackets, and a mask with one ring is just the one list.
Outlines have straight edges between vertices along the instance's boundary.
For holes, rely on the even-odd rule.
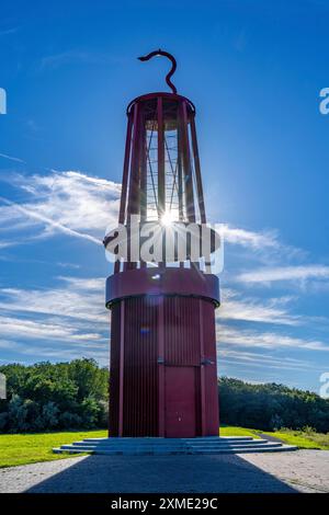
[[[61,461],[63,464],[63,461]],[[294,493],[288,484],[237,455],[87,456],[29,493]]]

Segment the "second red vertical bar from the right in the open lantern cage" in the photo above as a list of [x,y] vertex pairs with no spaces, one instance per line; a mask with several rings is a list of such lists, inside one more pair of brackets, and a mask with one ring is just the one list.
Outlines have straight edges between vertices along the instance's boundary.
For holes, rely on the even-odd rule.
[[189,117],[188,117],[186,102],[184,100],[182,101],[181,111],[182,111],[183,179],[185,182],[186,215],[188,215],[189,221],[195,221],[192,168],[191,168],[189,130],[188,130]]

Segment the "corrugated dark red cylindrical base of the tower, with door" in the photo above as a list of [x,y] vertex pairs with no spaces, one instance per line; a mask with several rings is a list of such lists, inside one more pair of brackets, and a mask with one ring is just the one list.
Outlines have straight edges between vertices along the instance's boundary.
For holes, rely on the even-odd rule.
[[218,435],[214,305],[144,296],[112,307],[111,436]]

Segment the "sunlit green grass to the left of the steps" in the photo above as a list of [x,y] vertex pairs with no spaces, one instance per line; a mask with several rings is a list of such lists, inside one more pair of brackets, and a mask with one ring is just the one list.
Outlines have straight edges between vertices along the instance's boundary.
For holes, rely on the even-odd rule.
[[53,447],[103,436],[106,431],[0,435],[0,468],[69,458],[73,455],[55,455]]

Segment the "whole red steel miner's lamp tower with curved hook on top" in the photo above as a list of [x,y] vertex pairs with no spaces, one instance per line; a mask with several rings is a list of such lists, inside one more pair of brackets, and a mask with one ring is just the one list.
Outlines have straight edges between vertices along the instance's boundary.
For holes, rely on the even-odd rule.
[[[139,59],[154,56],[172,62],[171,92],[138,96],[127,107],[118,222],[129,227],[134,215],[141,226],[206,224],[195,107],[170,80],[173,56],[156,50]],[[202,259],[115,262],[106,279],[111,437],[218,436],[219,282],[202,270]]]

